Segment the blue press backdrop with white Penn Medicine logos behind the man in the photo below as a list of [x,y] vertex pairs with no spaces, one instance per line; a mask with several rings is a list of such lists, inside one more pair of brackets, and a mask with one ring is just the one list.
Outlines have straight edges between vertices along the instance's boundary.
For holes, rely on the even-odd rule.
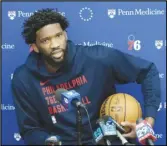
[[[165,2],[3,2],[2,4],[2,144],[24,144],[19,135],[10,84],[15,68],[30,52],[22,23],[41,8],[58,8],[70,22],[68,37],[76,44],[104,45],[153,61],[159,69],[162,100],[155,144],[166,144],[166,3]],[[136,97],[143,110],[140,85],[117,86]]]

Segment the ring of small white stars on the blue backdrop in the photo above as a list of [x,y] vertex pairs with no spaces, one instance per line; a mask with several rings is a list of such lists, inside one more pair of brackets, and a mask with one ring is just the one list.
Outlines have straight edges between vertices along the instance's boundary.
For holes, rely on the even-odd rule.
[[88,7],[81,8],[79,16],[83,21],[90,21],[93,18],[93,11]]

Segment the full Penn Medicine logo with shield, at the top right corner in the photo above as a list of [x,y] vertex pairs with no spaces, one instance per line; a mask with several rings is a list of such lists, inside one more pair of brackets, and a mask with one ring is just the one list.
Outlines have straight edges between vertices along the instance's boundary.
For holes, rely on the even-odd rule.
[[108,9],[107,10],[109,18],[114,18],[117,16],[159,16],[159,15],[165,15],[165,10],[163,9],[133,9],[133,10],[125,10],[125,9]]

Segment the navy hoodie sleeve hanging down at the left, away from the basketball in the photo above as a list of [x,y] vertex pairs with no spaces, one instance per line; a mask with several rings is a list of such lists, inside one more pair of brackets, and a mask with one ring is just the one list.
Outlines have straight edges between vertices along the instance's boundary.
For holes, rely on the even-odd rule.
[[12,80],[13,101],[19,132],[27,145],[44,145],[49,133],[39,122],[38,111],[33,107],[24,84],[14,75]]

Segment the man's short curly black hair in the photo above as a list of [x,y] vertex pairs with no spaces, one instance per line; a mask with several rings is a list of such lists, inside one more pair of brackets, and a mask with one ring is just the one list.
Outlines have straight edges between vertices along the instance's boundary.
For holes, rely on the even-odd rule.
[[59,23],[63,30],[69,26],[67,19],[55,9],[46,8],[34,12],[34,14],[23,23],[22,36],[25,42],[27,44],[35,43],[37,30],[53,23]]

